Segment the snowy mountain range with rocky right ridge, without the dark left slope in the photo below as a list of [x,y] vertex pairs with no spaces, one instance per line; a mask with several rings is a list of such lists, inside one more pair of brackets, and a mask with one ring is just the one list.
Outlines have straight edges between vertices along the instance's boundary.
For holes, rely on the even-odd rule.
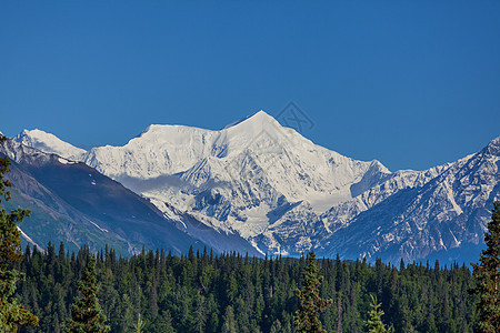
[[[40,149],[59,149],[161,211],[186,213],[267,253],[414,260],[478,244],[499,192],[499,139],[488,154],[392,173],[316,145],[263,111],[220,131],[151,125],[123,147],[78,153],[43,138]],[[463,185],[466,179],[483,185]]]

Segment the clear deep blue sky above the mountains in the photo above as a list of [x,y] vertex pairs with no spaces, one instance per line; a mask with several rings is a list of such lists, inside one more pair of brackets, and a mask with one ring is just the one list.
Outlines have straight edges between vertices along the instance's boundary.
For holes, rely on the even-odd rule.
[[294,101],[303,134],[390,170],[500,135],[499,1],[3,1],[0,131],[124,144]]

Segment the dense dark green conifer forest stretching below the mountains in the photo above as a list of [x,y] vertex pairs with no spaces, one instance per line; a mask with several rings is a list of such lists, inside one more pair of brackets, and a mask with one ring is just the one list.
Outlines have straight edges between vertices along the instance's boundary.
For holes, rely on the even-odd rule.
[[[21,332],[62,332],[90,258],[88,248],[69,253],[62,243],[49,243],[46,253],[26,248],[14,266],[26,274],[16,296],[40,322]],[[98,299],[111,332],[293,332],[306,264],[303,258],[192,250],[181,258],[157,250],[126,259],[106,249],[97,254]],[[373,297],[396,332],[461,333],[477,324],[479,296],[468,292],[474,280],[466,265],[318,264],[320,296],[332,300],[321,315],[328,332],[366,332]]]

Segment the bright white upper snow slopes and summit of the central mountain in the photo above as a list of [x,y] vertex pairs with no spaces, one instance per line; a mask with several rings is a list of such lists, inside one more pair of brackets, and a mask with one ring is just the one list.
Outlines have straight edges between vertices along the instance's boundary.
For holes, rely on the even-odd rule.
[[[291,153],[293,151],[296,153]],[[349,162],[349,159],[313,144],[294,130],[281,127],[263,111],[220,131],[153,124],[123,147],[93,148],[82,161],[114,179],[153,179],[186,172],[203,159],[219,159],[226,169],[232,170],[241,167],[232,162],[243,161],[244,157],[240,154],[254,154],[261,158],[261,162],[266,155],[288,154],[306,164],[319,159],[326,169],[331,169],[333,161],[337,164]],[[293,163],[291,160],[283,162]]]

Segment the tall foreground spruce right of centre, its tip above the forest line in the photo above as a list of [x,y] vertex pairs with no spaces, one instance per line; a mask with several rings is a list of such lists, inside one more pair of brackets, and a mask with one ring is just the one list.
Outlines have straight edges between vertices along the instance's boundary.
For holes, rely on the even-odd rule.
[[326,332],[322,329],[319,316],[324,312],[326,306],[331,304],[331,300],[323,300],[319,295],[319,286],[323,276],[319,275],[318,272],[316,253],[311,251],[308,255],[308,265],[303,275],[302,290],[297,291],[300,306],[293,317],[293,323],[299,333]]

